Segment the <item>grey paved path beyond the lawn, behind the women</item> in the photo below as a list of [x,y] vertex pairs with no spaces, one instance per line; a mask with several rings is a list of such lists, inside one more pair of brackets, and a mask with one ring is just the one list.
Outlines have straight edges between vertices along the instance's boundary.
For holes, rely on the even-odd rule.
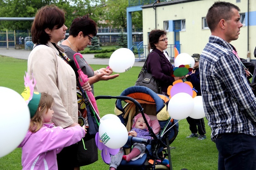
[[[0,55],[13,57],[17,59],[28,59],[28,56],[30,54],[30,50],[25,49],[15,49],[15,48],[0,48]],[[99,64],[99,65],[108,65],[109,59],[100,59],[100,58],[94,58],[94,54],[83,54],[84,59],[89,64]],[[144,62],[135,62],[133,66],[143,66]]]

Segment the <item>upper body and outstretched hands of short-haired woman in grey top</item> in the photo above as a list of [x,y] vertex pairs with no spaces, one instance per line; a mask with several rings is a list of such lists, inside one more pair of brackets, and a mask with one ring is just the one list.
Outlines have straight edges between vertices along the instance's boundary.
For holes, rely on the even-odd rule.
[[[61,43],[61,47],[65,49],[67,56],[73,59],[75,53],[84,50],[87,45],[91,45],[93,37],[97,34],[97,24],[88,15],[75,18],[69,29],[69,37]],[[89,78],[89,83],[94,94],[93,84],[100,80],[114,79],[119,74],[113,73],[111,68],[100,68],[94,71],[85,59],[76,57],[80,68]]]

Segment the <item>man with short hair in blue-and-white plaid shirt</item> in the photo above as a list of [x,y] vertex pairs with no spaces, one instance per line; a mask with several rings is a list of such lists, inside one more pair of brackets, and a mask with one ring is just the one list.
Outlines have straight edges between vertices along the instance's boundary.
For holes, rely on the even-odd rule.
[[211,30],[200,61],[200,84],[212,141],[216,143],[219,170],[256,169],[256,98],[236,49],[239,7],[215,2],[206,21]]

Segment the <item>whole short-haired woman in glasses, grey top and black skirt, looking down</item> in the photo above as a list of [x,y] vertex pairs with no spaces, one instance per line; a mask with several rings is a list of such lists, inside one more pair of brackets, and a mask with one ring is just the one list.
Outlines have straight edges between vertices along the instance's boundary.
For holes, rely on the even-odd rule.
[[[96,34],[97,24],[94,20],[89,18],[88,15],[75,18],[69,29],[69,37],[60,44],[60,47],[65,49],[65,53],[70,59],[73,59],[75,53],[84,50],[87,45],[91,45],[91,41],[93,41],[93,37],[96,36]],[[111,75],[113,73],[111,68],[100,68],[94,71],[85,59],[79,56],[76,56],[76,60],[83,73],[88,76],[93,94],[94,83],[100,80],[114,79],[119,76],[119,74]],[[81,91],[78,87],[76,91],[79,110],[77,114],[79,116],[82,115],[86,119],[87,112],[81,98]],[[87,134],[84,138],[84,142],[86,150],[84,149],[83,142],[78,142],[76,167],[89,165],[98,160],[98,148],[95,143],[95,138]]]

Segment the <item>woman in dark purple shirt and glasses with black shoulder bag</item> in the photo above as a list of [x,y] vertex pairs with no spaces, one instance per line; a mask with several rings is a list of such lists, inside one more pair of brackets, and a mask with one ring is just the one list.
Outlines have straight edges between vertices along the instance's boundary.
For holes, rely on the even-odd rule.
[[165,57],[163,50],[167,49],[168,38],[167,32],[164,30],[152,30],[148,35],[148,49],[152,49],[147,59],[147,71],[158,80],[161,86],[161,93],[168,96],[167,88],[176,80],[184,79],[185,77],[172,77],[172,64]]

